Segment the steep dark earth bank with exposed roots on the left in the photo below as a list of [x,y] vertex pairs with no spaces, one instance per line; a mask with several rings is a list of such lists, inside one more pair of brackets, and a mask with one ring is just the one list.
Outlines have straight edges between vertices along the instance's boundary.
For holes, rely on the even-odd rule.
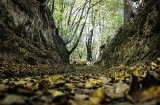
[[0,61],[69,62],[51,13],[41,0],[0,0]]

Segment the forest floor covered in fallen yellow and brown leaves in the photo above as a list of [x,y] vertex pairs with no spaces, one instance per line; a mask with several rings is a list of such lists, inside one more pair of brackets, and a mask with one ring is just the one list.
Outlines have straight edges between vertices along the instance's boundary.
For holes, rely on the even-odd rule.
[[136,66],[73,65],[66,69],[73,70],[1,78],[0,105],[160,104],[160,58]]

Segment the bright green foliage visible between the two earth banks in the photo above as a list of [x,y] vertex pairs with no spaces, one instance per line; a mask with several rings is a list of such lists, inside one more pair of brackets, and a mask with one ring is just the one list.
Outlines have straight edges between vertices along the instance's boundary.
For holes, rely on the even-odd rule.
[[[82,8],[85,5],[84,13],[80,19]],[[71,59],[86,58],[86,37],[93,28],[93,56],[97,59],[99,54],[99,47],[106,43],[108,37],[115,34],[115,31],[123,24],[123,1],[121,0],[91,0],[91,7],[83,30],[83,35],[79,42],[77,49],[72,53]],[[54,18],[56,25],[59,28],[61,37],[68,42],[68,50],[70,50],[76,43],[82,24],[85,21],[86,11],[89,8],[89,0],[55,0]],[[52,0],[50,0],[49,7],[51,8]],[[72,8],[73,7],[73,8]],[[93,19],[94,18],[94,19]],[[93,21],[94,20],[94,27]],[[79,27],[76,30],[76,25]],[[75,31],[75,32],[74,32]]]

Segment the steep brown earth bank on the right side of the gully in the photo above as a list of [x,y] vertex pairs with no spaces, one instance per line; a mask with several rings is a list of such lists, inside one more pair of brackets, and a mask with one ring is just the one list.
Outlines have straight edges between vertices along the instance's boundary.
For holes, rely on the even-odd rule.
[[98,64],[132,65],[160,56],[160,1],[145,0],[142,11],[106,44]]

